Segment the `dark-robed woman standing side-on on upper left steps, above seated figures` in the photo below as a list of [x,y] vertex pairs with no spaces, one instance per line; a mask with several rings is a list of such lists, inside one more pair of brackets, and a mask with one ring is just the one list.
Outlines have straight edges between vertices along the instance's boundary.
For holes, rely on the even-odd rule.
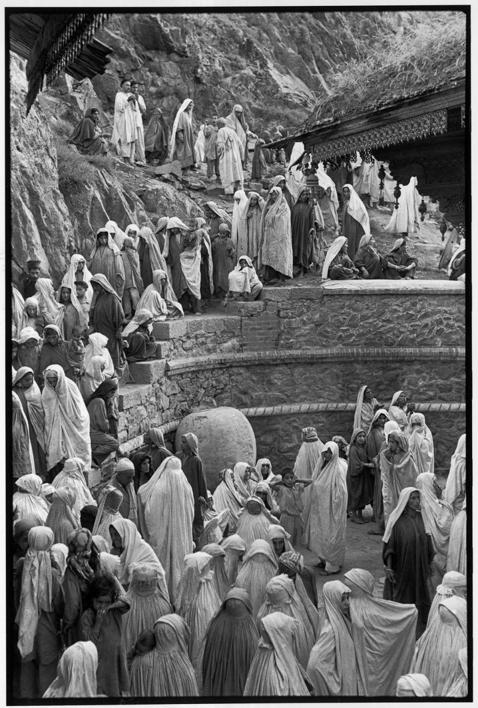
[[113,361],[115,372],[120,377],[125,366],[121,345],[121,326],[125,319],[125,313],[121,306],[121,300],[108,282],[106,275],[102,273],[93,275],[91,286],[96,293],[96,302],[93,310],[90,310],[90,321],[95,332],[108,337],[106,347]]

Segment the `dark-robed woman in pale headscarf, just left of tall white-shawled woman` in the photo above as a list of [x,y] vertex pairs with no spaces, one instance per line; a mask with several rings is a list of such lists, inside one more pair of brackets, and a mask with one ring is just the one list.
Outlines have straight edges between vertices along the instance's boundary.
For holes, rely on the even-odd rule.
[[35,383],[33,369],[23,366],[16,372],[12,382],[12,391],[20,399],[23,413],[28,422],[30,445],[33,452],[34,470],[37,474],[45,476],[47,460],[45,457],[44,413],[42,394]]

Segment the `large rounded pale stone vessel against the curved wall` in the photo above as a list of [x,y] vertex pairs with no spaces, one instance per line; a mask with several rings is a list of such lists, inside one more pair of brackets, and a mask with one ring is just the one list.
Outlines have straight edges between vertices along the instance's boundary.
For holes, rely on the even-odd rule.
[[207,489],[214,491],[219,484],[219,472],[233,469],[236,462],[256,464],[256,436],[241,411],[222,406],[190,413],[176,430],[176,450],[181,450],[181,436],[194,433],[199,441],[199,456],[203,460]]

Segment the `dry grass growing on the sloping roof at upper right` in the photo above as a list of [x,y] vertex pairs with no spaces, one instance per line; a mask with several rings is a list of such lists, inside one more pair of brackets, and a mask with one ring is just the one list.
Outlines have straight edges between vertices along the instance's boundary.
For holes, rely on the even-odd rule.
[[380,48],[369,52],[355,42],[358,59],[327,77],[331,95],[321,99],[306,127],[376,110],[465,76],[463,13],[420,13],[415,24],[383,23],[382,38]]

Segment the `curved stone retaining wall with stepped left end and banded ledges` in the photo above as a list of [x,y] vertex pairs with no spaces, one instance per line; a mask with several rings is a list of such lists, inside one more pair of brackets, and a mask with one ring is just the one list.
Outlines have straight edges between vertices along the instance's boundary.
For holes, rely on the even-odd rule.
[[424,413],[436,464],[465,430],[465,288],[436,280],[265,287],[256,302],[217,302],[201,317],[154,324],[156,360],[130,366],[120,390],[120,442],[152,426],[171,434],[190,411],[234,406],[258,454],[293,464],[301,428],[351,435],[358,389],[381,404],[404,389]]

